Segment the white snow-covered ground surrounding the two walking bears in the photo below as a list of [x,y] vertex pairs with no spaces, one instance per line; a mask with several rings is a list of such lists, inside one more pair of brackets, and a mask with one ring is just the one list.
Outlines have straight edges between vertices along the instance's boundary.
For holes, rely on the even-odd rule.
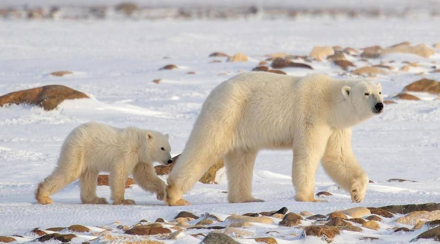
[[[77,182],[55,194],[55,204],[38,205],[34,200],[36,185],[54,168],[64,138],[81,123],[135,125],[169,133],[172,153],[177,155],[209,92],[221,81],[257,66],[265,54],[307,55],[315,45],[385,47],[410,41],[431,46],[440,41],[439,24],[439,19],[0,20],[0,95],[62,84],[92,97],[63,102],[49,112],[23,105],[0,108],[0,235],[23,234],[35,227],[100,226],[115,221],[130,225],[159,217],[171,220],[182,210],[198,215],[229,215],[286,206],[292,212],[327,214],[354,206],[439,203],[437,97],[386,105],[383,114],[354,128],[354,152],[375,182],[369,185],[362,203],[351,203],[349,194],[340,190],[322,168],[316,175],[315,191],[332,192],[334,195],[326,198],[329,203],[295,202],[289,151],[262,151],[257,157],[253,192],[264,203],[227,203],[226,194],[222,193],[227,190],[224,174],[219,176],[219,184],[197,183],[186,195],[190,206],[166,206],[137,185],[126,190],[126,197],[134,199],[135,206],[83,205],[79,204]],[[242,52],[250,61],[208,58],[215,51],[230,55]],[[215,59],[222,62],[210,63]],[[430,70],[430,66],[440,67],[440,50],[430,59],[413,55],[390,55],[384,59],[421,64],[413,71],[390,71],[389,75],[376,78],[383,85],[385,97],[392,97],[406,84],[421,78],[440,80],[440,73],[417,74]],[[380,60],[371,62],[378,64]],[[158,71],[166,64],[176,64],[179,69]],[[311,65],[314,70],[285,71],[289,75],[324,72],[332,77],[343,73],[330,62]],[[74,74],[48,76],[57,70]],[[186,74],[190,71],[196,74]],[[155,84],[154,79],[162,81]],[[389,183],[390,178],[417,182]],[[109,198],[110,189],[99,186],[98,195]],[[381,240],[405,243],[418,233],[389,235]],[[293,241],[302,243],[305,239],[297,237]],[[358,241],[338,238],[334,243]]]

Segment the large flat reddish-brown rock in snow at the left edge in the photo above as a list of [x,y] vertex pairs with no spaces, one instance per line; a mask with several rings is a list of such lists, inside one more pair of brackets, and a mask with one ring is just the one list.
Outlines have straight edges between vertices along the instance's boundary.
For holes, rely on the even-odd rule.
[[3,95],[0,97],[0,107],[5,104],[29,104],[52,110],[66,99],[80,98],[88,96],[64,85],[45,85]]

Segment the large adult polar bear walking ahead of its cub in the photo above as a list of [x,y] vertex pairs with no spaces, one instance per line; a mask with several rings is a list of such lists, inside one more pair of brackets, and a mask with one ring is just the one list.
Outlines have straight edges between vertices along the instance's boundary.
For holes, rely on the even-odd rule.
[[190,138],[168,177],[169,205],[182,199],[223,157],[230,203],[252,197],[255,157],[261,149],[293,151],[296,201],[314,199],[318,162],[348,190],[353,202],[365,196],[368,176],[351,146],[351,127],[383,109],[381,85],[335,80],[324,74],[292,77],[267,72],[237,75],[217,86],[204,102]]

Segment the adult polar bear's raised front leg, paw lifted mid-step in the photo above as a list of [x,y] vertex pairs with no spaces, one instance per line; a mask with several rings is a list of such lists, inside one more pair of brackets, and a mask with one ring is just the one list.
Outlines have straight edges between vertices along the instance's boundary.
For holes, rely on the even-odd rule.
[[335,183],[350,192],[352,201],[359,203],[367,192],[368,175],[357,162],[351,141],[351,129],[333,132],[327,143],[322,165]]

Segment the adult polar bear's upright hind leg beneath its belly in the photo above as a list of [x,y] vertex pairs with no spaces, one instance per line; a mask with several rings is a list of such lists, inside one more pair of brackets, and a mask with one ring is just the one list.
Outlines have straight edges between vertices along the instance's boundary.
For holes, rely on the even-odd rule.
[[257,152],[233,150],[224,157],[229,203],[264,202],[252,197],[252,175]]

